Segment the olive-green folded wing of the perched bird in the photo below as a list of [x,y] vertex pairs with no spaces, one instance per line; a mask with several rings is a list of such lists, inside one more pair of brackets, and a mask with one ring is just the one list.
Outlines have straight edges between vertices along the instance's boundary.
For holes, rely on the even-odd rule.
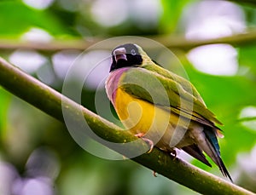
[[171,109],[185,118],[200,123],[222,124],[207,109],[195,87],[183,77],[160,66],[146,65],[128,69],[119,80],[119,87],[142,100]]

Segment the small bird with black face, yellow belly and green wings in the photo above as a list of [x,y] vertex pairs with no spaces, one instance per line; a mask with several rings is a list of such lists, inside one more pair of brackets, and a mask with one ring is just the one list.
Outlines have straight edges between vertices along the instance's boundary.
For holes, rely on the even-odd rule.
[[188,80],[151,60],[134,43],[113,49],[106,92],[126,129],[176,156],[175,148],[212,167],[204,153],[230,178],[220,158],[216,124],[201,95]]

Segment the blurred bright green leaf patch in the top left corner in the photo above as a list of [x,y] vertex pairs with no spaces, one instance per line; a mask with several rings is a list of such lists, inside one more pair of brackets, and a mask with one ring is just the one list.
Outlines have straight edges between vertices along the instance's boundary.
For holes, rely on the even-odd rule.
[[19,37],[31,27],[39,27],[52,35],[67,33],[67,27],[47,10],[37,10],[13,1],[0,3],[0,35]]

